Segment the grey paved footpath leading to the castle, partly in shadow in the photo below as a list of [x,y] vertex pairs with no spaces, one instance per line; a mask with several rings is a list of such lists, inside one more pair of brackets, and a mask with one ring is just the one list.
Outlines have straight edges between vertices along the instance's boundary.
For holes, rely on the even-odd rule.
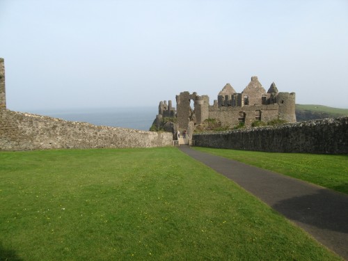
[[180,145],[180,150],[230,178],[348,260],[348,195],[345,193],[199,152],[187,145]]

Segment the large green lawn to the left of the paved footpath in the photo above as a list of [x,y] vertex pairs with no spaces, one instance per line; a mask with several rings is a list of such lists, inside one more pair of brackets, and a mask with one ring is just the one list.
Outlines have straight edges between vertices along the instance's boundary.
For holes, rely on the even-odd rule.
[[0,152],[0,260],[340,260],[177,148]]

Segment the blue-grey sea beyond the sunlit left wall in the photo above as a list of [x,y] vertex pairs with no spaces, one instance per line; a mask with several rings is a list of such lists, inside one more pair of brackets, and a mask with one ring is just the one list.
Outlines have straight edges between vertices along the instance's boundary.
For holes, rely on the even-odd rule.
[[61,118],[63,120],[88,122],[93,125],[148,131],[158,114],[158,108],[40,109],[31,111],[31,113]]

